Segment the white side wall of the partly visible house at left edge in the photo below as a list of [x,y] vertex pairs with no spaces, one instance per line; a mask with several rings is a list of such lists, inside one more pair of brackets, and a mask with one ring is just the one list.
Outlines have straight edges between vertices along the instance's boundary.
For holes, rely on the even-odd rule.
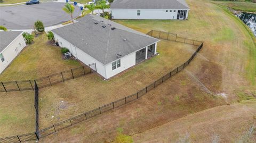
[[0,73],[13,61],[13,59],[21,52],[26,46],[22,33],[12,41],[0,54],[4,56],[4,62],[0,60]]

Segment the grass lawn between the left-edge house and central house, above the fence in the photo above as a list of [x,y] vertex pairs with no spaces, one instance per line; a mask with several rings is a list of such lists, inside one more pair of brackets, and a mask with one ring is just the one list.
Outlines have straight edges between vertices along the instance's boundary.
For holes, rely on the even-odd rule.
[[45,33],[34,41],[0,74],[0,81],[36,79],[81,66],[75,60],[62,60],[60,48],[52,46]]

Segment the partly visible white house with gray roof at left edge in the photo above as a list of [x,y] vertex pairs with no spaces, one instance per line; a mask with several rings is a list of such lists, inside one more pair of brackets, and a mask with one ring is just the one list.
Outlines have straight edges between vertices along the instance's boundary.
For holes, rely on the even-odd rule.
[[0,73],[26,46],[22,31],[0,32]]

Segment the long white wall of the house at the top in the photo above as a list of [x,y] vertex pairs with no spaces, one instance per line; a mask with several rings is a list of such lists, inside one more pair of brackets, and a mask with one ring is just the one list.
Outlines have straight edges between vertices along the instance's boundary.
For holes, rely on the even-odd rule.
[[[137,15],[137,10],[134,9],[111,9],[111,15],[113,19],[177,19],[178,10],[175,12],[173,9],[166,10],[140,10],[140,15]],[[189,10],[187,10],[186,19],[188,12]]]

